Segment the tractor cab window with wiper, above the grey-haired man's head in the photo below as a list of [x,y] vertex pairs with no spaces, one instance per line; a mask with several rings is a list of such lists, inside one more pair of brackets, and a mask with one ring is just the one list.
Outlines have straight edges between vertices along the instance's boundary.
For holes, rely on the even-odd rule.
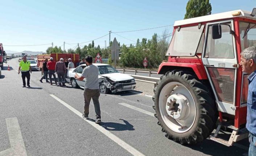
[[256,24],[239,22],[241,50],[256,46]]

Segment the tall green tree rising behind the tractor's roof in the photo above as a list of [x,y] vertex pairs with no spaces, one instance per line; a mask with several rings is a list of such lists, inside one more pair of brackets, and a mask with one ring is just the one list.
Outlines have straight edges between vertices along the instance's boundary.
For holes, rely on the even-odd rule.
[[205,16],[211,14],[211,3],[209,0],[189,0],[186,6],[184,19]]

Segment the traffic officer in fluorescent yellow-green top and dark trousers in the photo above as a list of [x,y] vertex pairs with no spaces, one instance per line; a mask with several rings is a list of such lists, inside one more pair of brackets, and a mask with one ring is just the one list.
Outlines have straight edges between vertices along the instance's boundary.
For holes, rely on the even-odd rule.
[[[22,81],[23,81],[23,87],[26,87],[26,78],[27,78],[27,85],[28,87],[30,87],[30,73],[32,73],[31,71],[31,66],[30,66],[30,62],[27,61],[27,57],[23,56],[23,60],[20,62],[20,66],[18,67],[18,74],[20,74],[21,71],[21,77],[22,77]],[[29,73],[30,71],[30,73]]]

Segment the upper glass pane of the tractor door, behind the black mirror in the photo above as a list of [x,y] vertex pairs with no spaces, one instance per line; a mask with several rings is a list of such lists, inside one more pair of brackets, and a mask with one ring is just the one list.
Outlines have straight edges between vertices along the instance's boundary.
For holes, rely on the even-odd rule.
[[[231,26],[231,23],[227,23]],[[205,58],[234,58],[234,46],[230,27],[221,25],[222,37],[212,39],[212,25],[208,28]]]

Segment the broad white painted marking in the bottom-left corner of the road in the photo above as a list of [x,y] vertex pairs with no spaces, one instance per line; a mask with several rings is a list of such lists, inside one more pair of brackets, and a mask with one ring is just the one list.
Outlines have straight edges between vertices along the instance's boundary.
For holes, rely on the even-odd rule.
[[20,126],[17,118],[5,119],[11,148],[0,152],[0,156],[17,155],[27,156],[24,141],[22,139]]

